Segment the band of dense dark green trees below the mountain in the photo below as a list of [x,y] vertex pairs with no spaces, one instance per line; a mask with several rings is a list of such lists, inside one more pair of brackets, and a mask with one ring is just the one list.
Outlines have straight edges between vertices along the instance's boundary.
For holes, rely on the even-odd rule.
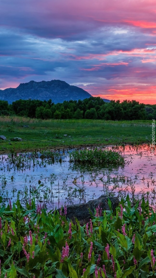
[[156,105],[138,101],[111,100],[100,97],[70,100],[54,104],[52,100],[17,100],[12,104],[0,101],[0,115],[18,115],[40,119],[102,119],[102,120],[152,120],[156,118]]

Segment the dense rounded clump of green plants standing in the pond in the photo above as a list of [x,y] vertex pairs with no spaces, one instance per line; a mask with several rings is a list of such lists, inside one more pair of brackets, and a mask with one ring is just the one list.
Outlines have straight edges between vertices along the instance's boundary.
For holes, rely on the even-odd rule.
[[90,165],[124,166],[124,157],[112,150],[99,148],[75,150],[70,153],[70,162]]

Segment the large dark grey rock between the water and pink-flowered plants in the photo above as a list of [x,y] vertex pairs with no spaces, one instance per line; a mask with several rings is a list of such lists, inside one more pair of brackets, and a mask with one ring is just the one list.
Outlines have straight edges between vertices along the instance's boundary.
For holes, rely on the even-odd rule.
[[[109,197],[112,202],[113,211],[119,205],[119,199],[117,197]],[[75,218],[80,222],[80,225],[84,225],[89,222],[90,212],[94,215],[94,208],[96,209],[100,205],[102,210],[110,210],[108,205],[108,197],[101,195],[98,199],[90,200],[88,203],[80,203],[67,206],[67,218],[71,219],[76,224]],[[64,213],[64,208],[62,209]]]

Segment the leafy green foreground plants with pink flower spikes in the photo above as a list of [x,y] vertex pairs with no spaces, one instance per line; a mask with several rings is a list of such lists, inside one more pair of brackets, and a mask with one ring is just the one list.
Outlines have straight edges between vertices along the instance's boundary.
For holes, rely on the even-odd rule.
[[155,277],[156,214],[144,199],[130,205],[127,196],[112,212],[109,201],[83,227],[34,200],[2,206],[1,278]]

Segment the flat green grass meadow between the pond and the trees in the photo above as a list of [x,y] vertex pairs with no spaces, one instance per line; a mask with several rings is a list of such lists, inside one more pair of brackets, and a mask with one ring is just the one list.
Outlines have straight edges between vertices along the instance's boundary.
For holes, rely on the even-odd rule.
[[[22,125],[29,125],[29,128],[23,128]],[[0,141],[0,152],[146,143],[151,142],[150,134],[151,121],[149,120],[37,120],[1,116],[0,135],[6,136],[7,140]],[[8,141],[12,137],[21,137],[23,141]]]

